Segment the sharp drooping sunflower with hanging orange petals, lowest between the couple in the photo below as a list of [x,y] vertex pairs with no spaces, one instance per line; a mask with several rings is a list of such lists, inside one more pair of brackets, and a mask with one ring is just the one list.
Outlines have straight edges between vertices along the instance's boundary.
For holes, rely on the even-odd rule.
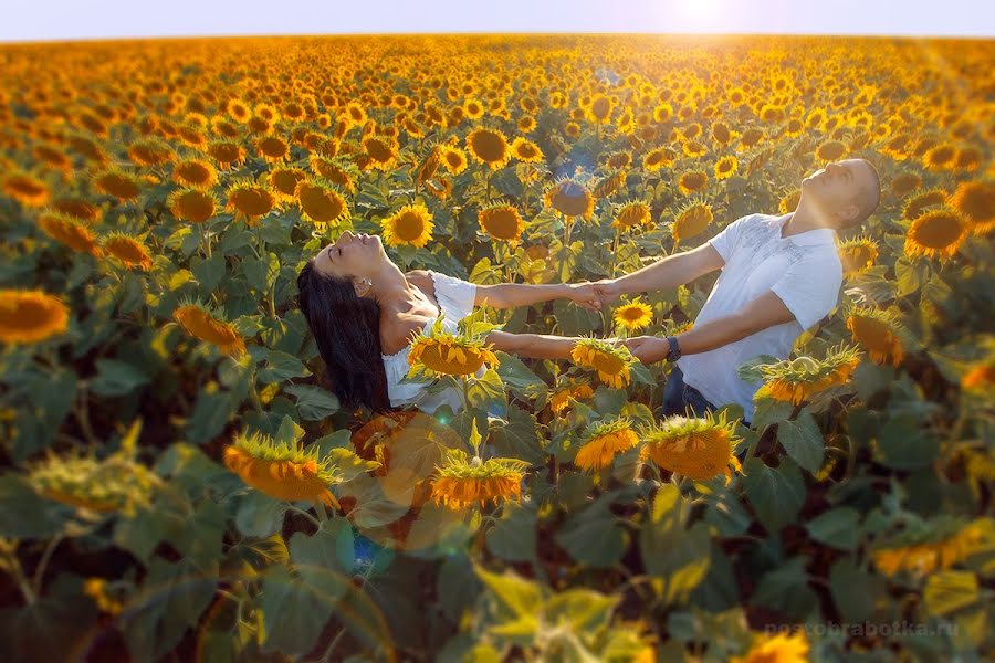
[[[474,421],[474,431],[476,430]],[[519,459],[472,459],[461,449],[447,449],[438,476],[431,481],[432,501],[451,509],[495,505],[501,499],[521,499],[522,478],[528,463]]]

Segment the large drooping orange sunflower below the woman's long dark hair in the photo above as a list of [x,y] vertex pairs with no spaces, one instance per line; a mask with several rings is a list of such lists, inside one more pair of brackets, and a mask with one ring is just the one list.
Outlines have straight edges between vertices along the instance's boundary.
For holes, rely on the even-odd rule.
[[269,435],[253,431],[238,433],[224,449],[224,466],[242,477],[248,485],[274,499],[287,502],[318,501],[339,508],[328,486],[345,481],[342,461],[358,462],[368,470],[379,466],[345,449],[334,450],[318,457],[317,445],[300,449],[296,443],[276,444]]

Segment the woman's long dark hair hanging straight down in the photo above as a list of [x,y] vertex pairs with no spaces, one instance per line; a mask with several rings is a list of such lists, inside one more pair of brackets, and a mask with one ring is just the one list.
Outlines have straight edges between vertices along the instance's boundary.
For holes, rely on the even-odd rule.
[[374,412],[389,412],[379,304],[358,296],[347,278],[315,270],[314,259],[297,274],[297,291],[338,400],[348,408],[366,406]]

